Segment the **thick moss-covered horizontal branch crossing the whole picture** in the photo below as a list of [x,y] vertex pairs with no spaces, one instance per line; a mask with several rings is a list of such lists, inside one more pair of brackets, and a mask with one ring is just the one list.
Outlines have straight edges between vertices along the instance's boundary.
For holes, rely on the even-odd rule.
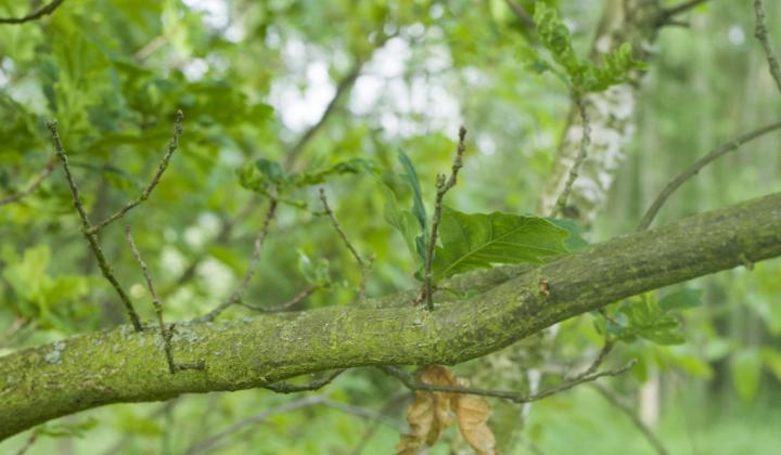
[[153,332],[75,336],[0,358],[0,440],[111,403],[259,388],[329,369],[456,364],[616,300],[778,256],[781,193],[591,246],[432,312],[401,294],[395,307],[385,298],[381,308],[368,300],[178,325],[174,355],[204,360],[204,370],[171,375]]

